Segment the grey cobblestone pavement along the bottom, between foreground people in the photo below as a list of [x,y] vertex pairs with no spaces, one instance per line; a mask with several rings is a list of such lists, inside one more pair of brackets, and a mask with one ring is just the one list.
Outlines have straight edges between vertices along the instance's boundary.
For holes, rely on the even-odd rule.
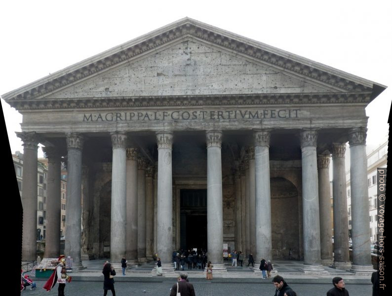
[[[238,280],[237,280],[238,281]],[[190,282],[195,287],[196,296],[273,296],[274,286],[271,282],[264,283],[217,283],[206,280],[198,280]],[[22,291],[22,296],[57,296],[57,285],[52,291],[47,293],[42,290],[44,281],[37,280],[37,289],[30,291]],[[116,296],[168,296],[170,288],[175,281],[173,279],[162,279],[161,282],[116,282]],[[297,293],[298,296],[325,296],[326,292],[332,288],[332,284],[290,284],[288,285]],[[347,285],[346,289],[350,295],[354,296],[370,296],[372,294],[372,286],[370,284],[352,284]],[[146,292],[144,292],[144,290]],[[67,284],[65,288],[66,296],[102,296],[102,281],[80,281]],[[109,291],[108,296],[112,296]]]

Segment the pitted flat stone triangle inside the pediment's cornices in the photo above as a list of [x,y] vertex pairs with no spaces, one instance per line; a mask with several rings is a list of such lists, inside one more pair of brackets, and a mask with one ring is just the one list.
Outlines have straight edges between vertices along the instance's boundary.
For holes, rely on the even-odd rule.
[[75,83],[49,99],[333,91],[301,78],[187,40]]

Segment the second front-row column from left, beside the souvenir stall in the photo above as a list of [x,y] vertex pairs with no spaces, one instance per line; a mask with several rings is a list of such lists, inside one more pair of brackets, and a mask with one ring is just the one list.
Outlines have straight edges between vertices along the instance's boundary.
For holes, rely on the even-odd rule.
[[65,256],[74,260],[74,268],[82,267],[81,247],[81,157],[83,138],[78,134],[67,136],[67,201],[65,225]]

